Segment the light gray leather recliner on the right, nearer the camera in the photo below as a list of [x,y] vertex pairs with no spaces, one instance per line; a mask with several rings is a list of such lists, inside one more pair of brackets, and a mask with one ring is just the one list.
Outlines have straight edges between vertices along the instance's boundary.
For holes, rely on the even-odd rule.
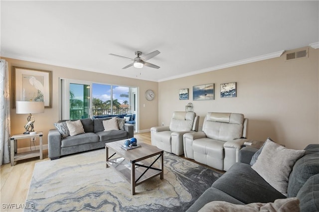
[[248,119],[240,113],[208,112],[203,131],[183,135],[186,158],[227,171],[238,162],[247,137]]

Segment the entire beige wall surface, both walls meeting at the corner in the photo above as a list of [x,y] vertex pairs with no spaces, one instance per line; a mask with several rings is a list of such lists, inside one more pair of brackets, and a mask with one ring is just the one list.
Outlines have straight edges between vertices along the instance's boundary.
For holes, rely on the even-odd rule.
[[[249,139],[265,140],[269,136],[289,148],[302,149],[319,143],[319,50],[309,48],[309,58],[289,62],[285,56],[160,83],[3,59],[8,61],[10,83],[12,66],[52,71],[52,108],[34,114],[35,130],[43,131],[44,144],[48,130],[59,117],[58,79],[67,78],[139,87],[140,132],[162,122],[168,125],[173,111],[183,111],[187,103],[192,103],[200,115],[200,125],[209,111],[239,112],[249,118]],[[220,84],[229,82],[237,82],[237,97],[220,98]],[[210,83],[215,84],[215,100],[192,101],[192,86]],[[178,100],[182,88],[189,89],[189,100]],[[155,91],[154,101],[144,98],[148,89]],[[11,134],[23,132],[25,122],[26,115],[15,114],[11,108]],[[28,146],[29,142],[18,144],[18,148]]]

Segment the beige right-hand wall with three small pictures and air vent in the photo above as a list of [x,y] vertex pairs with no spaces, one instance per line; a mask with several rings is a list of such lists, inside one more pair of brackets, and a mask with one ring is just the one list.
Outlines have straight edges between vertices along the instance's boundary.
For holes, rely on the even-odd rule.
[[[303,149],[319,143],[319,49],[309,58],[286,62],[279,58],[259,61],[159,83],[159,122],[168,125],[173,111],[192,103],[200,115],[238,112],[249,118],[248,138],[269,136],[288,148]],[[236,98],[220,98],[220,84],[237,82]],[[192,101],[192,86],[215,84],[215,100]],[[188,88],[189,100],[178,100]]]

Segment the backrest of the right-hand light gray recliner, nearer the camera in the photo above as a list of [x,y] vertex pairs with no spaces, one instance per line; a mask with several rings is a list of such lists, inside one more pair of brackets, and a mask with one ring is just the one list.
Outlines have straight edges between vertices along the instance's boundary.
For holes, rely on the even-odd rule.
[[211,139],[230,141],[243,135],[244,115],[240,113],[208,112],[203,131]]

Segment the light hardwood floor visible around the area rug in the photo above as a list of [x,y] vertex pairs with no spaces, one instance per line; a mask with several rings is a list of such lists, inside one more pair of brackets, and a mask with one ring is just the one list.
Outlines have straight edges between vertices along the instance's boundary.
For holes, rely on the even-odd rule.
[[[138,141],[140,142],[151,144],[150,132],[135,134],[134,137],[136,137]],[[22,208],[12,209],[12,207],[18,208],[20,204],[25,203],[29,185],[32,178],[34,165],[38,162],[45,161],[45,160],[50,160],[48,158],[48,150],[43,150],[43,160],[39,160],[39,158],[37,157],[37,158],[30,158],[26,160],[17,161],[15,162],[14,166],[10,166],[10,163],[3,164],[2,166],[0,166],[0,170],[1,170],[0,212],[22,212],[23,211]],[[195,162],[194,160],[191,160],[191,161]],[[208,167],[208,168],[211,168],[211,167]],[[215,170],[215,171],[223,173],[220,170]],[[11,209],[7,209],[8,208],[7,205],[10,205]]]

